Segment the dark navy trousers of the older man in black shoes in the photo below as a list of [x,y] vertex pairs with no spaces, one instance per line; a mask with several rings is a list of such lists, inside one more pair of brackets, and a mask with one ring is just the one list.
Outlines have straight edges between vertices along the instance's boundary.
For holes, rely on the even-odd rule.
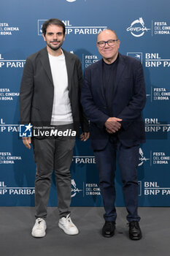
[[119,140],[110,138],[106,148],[94,151],[96,164],[99,170],[101,195],[104,203],[104,219],[115,221],[115,170],[116,158],[123,181],[123,195],[125,207],[128,211],[128,222],[139,221],[137,213],[139,184],[137,180],[137,167],[139,163],[139,146],[125,147]]

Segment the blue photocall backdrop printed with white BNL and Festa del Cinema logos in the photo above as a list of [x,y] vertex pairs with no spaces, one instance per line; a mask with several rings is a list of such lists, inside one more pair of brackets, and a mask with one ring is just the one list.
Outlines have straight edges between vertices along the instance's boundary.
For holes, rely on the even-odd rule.
[[[63,48],[82,70],[101,59],[98,32],[111,28],[120,53],[142,62],[147,87],[143,111],[147,143],[139,149],[139,206],[169,206],[170,199],[170,1],[6,0],[0,5],[0,206],[34,206],[33,151],[19,137],[19,90],[26,58],[46,46],[42,24],[66,25]],[[123,159],[122,159],[123,161]],[[90,143],[77,141],[72,162],[72,206],[102,206]],[[124,206],[117,169],[116,206]],[[49,206],[57,206],[52,178]]]

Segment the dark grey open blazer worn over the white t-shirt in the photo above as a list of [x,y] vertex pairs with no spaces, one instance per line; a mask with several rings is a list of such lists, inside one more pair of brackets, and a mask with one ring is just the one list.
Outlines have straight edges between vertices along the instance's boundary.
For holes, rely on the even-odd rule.
[[[63,50],[63,49],[62,49]],[[80,105],[82,68],[80,59],[63,50],[69,83],[69,99],[72,107],[74,129],[79,134],[88,131],[88,120]],[[32,54],[26,60],[20,86],[20,123],[34,126],[50,126],[53,111],[54,86],[47,48]]]

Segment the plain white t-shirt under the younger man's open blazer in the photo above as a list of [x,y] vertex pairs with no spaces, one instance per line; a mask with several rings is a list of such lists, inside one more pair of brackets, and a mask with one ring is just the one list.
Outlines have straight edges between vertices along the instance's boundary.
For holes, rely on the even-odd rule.
[[54,85],[54,100],[51,125],[72,124],[72,108],[69,100],[68,75],[66,70],[65,56],[52,56],[50,59],[50,68]]

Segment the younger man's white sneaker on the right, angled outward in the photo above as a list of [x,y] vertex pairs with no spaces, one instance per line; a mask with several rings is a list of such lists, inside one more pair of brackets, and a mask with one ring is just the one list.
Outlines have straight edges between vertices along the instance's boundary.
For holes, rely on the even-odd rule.
[[60,227],[67,235],[77,235],[79,230],[72,222],[70,218],[70,214],[65,217],[59,219],[58,227]]

